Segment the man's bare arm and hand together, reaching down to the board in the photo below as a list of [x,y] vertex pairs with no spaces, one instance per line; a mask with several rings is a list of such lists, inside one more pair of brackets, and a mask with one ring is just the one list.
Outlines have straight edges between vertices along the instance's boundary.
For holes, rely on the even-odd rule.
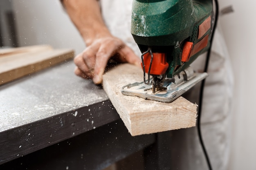
[[97,0],[63,0],[63,4],[87,46],[74,58],[76,75],[101,84],[108,59],[113,55],[117,55],[121,62],[139,64],[139,57],[119,38],[111,35],[103,22]]

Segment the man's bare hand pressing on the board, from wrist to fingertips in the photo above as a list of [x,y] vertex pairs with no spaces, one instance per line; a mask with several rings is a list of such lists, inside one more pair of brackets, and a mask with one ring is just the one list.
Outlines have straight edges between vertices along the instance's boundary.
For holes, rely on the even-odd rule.
[[80,77],[92,79],[95,84],[101,84],[108,60],[114,55],[120,62],[139,65],[139,57],[124,42],[109,36],[95,40],[74,58],[74,72]]

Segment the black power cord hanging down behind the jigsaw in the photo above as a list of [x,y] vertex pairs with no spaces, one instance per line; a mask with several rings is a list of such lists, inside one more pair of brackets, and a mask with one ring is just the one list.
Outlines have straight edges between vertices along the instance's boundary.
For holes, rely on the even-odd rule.
[[[209,66],[209,60],[210,60],[210,55],[211,55],[211,46],[212,46],[212,42],[213,42],[213,36],[216,30],[216,26],[217,26],[217,22],[218,22],[218,13],[219,13],[219,4],[218,4],[218,0],[213,0],[215,2],[215,18],[214,18],[214,25],[213,25],[213,30],[212,30],[212,34],[211,34],[211,40],[210,40],[210,47],[207,51],[207,57],[206,57],[206,61],[205,61],[205,66],[204,66],[204,72],[208,71],[208,66]],[[204,157],[207,161],[207,166],[209,168],[209,170],[212,170],[212,166],[211,166],[211,161],[209,159],[209,156],[207,154],[207,150],[204,146],[204,142],[202,139],[202,133],[201,133],[201,113],[202,113],[202,102],[203,102],[203,93],[204,93],[204,85],[205,85],[205,79],[202,80],[202,84],[200,87],[200,95],[199,95],[199,104],[198,104],[198,121],[197,121],[197,130],[198,130],[198,137],[199,137],[199,141],[200,144],[202,146],[202,150],[204,152]]]

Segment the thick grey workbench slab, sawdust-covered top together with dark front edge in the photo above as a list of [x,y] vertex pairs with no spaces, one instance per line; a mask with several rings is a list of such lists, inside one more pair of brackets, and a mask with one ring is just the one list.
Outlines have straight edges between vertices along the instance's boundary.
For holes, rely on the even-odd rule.
[[70,60],[0,86],[0,164],[120,118],[73,70]]

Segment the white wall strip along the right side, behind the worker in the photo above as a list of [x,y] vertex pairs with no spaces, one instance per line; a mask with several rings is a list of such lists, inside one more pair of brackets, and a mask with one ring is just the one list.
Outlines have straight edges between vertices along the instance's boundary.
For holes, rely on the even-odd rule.
[[229,170],[255,170],[256,152],[256,1],[219,0],[234,13],[220,18],[235,76],[233,145]]

